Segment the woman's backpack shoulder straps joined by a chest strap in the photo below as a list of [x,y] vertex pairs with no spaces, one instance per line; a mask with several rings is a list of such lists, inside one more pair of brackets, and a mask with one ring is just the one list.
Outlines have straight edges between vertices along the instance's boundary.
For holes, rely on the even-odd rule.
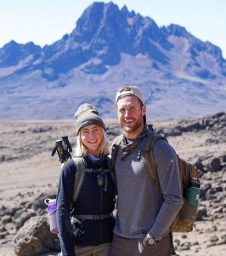
[[74,183],[74,190],[73,190],[73,195],[72,195],[72,203],[77,200],[77,197],[79,195],[80,190],[82,189],[82,183],[84,181],[86,172],[110,172],[110,177],[112,178],[112,181],[114,183],[115,189],[116,189],[116,177],[115,177],[115,172],[114,172],[114,166],[112,165],[111,159],[109,156],[107,156],[107,169],[93,169],[93,168],[86,168],[86,162],[85,160],[80,157],[76,156],[73,157],[73,160],[76,164],[76,177],[75,177],[75,183]]

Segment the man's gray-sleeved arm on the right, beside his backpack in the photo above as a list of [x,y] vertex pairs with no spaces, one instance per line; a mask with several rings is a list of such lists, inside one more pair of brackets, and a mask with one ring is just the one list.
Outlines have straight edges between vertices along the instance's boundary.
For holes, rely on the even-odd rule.
[[179,178],[178,158],[174,149],[167,141],[159,139],[155,143],[153,154],[157,165],[163,203],[149,234],[155,239],[161,239],[170,228],[179,209],[183,206],[183,196]]

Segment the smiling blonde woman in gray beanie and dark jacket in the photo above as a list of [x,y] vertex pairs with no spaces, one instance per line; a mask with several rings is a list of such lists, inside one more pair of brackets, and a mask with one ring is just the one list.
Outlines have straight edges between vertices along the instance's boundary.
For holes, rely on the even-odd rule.
[[78,170],[75,159],[68,160],[60,172],[57,195],[60,247],[63,256],[108,256],[115,225],[111,212],[116,189],[107,160],[105,124],[90,104],[82,104],[75,116],[76,156],[84,160],[86,172],[76,201],[73,201]]

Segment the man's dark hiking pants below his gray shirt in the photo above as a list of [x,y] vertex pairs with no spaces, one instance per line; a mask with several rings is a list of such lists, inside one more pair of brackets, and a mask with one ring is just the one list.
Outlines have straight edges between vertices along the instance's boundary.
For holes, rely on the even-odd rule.
[[111,243],[110,256],[169,256],[171,255],[170,236],[167,235],[161,239],[155,246],[143,247],[142,253],[139,252],[139,245],[143,239],[127,239],[114,235]]

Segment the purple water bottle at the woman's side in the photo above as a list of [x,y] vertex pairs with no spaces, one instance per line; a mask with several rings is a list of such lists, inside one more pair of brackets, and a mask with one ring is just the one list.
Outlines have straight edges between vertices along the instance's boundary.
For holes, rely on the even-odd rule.
[[48,205],[48,223],[50,226],[50,231],[52,233],[58,233],[56,220],[56,200],[47,198],[45,199],[45,204]]

